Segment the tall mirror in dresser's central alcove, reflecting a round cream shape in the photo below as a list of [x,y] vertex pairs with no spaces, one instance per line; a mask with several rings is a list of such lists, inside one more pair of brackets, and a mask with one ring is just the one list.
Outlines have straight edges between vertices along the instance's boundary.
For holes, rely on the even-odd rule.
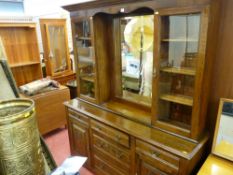
[[151,105],[153,15],[124,17],[121,24],[122,98]]

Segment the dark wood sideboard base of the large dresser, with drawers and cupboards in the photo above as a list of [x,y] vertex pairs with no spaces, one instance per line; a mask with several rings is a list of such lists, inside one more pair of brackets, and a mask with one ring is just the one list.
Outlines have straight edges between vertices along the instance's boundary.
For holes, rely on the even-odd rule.
[[207,136],[195,143],[81,99],[65,106],[71,154],[96,174],[187,175],[204,154]]

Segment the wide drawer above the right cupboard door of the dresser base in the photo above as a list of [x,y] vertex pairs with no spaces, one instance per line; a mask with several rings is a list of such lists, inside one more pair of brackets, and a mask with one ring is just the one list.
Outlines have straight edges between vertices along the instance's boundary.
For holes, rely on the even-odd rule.
[[179,157],[140,140],[136,140],[136,152],[142,159],[150,162],[156,168],[168,174],[178,174]]

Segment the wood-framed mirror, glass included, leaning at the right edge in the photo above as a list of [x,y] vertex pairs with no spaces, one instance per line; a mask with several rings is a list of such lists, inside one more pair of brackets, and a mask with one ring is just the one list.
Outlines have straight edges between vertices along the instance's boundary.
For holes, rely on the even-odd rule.
[[233,100],[221,99],[212,153],[233,161]]

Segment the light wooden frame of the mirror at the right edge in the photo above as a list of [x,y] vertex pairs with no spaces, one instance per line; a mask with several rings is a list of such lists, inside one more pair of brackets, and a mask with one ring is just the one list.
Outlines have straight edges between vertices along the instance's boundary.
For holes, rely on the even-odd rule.
[[225,158],[225,159],[228,159],[230,161],[233,161],[233,157],[230,157],[230,156],[227,156],[225,154],[221,154],[220,152],[215,151],[217,137],[218,137],[218,131],[219,131],[219,125],[220,125],[220,119],[221,119],[221,115],[222,115],[222,109],[223,109],[224,102],[233,103],[233,100],[226,99],[226,98],[220,98],[218,115],[217,115],[217,119],[216,119],[215,131],[214,131],[214,139],[213,139],[213,143],[212,143],[212,154],[217,155],[217,156],[222,157],[222,158]]

